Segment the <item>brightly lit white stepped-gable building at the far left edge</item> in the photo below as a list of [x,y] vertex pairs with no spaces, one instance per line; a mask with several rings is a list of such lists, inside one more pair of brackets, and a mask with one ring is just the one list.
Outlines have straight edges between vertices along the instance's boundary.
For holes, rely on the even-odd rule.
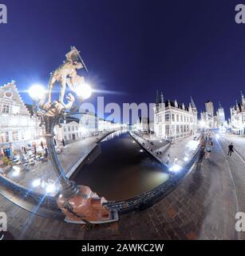
[[38,146],[44,141],[40,120],[31,116],[15,82],[0,87],[0,155],[13,156],[14,150]]

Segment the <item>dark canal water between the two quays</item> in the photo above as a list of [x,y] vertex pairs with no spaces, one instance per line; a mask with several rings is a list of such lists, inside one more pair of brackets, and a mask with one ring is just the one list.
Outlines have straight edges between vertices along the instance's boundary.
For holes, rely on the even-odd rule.
[[73,179],[107,200],[126,200],[148,192],[168,180],[166,167],[132,139],[118,131],[98,143]]

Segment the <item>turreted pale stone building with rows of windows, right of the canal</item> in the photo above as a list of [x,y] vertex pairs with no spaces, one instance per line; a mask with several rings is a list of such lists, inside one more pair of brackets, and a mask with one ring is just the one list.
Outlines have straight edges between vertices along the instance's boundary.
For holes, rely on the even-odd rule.
[[178,104],[177,101],[164,102],[161,93],[156,95],[154,107],[154,133],[157,138],[184,138],[196,134],[197,110],[191,98],[188,107]]

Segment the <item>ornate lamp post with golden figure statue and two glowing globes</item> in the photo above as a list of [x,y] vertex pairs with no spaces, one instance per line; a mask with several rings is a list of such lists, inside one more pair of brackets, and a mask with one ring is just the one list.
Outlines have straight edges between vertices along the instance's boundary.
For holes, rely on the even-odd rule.
[[[75,182],[66,178],[55,152],[53,128],[61,119],[71,114],[75,108],[73,106],[75,102],[73,94],[68,94],[66,96],[67,103],[64,102],[66,84],[80,98],[89,98],[91,94],[89,86],[85,84],[85,79],[77,75],[77,69],[85,67],[80,52],[75,47],[71,47],[65,57],[65,62],[50,74],[47,101],[46,94],[40,87],[33,87],[30,90],[32,92],[30,96],[39,102],[37,115],[41,117],[41,125],[45,126],[45,139],[50,159],[61,184],[57,206],[65,214],[65,222],[82,224],[116,222],[118,220],[117,210],[106,209],[103,206],[103,203],[106,202],[105,198],[100,198],[88,186],[77,186]],[[51,102],[52,90],[56,82],[61,86],[60,95],[58,100]]]

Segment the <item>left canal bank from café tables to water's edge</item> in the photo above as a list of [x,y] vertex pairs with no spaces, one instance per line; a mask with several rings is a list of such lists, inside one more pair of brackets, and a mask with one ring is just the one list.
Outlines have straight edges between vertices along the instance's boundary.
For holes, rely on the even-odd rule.
[[[77,166],[79,166],[97,146],[97,143],[101,142],[102,139],[111,133],[113,133],[113,131],[106,131],[97,136],[69,143],[66,146],[61,146],[62,152],[61,154],[57,154],[57,158],[68,178],[77,169]],[[18,166],[18,168],[20,167]],[[57,174],[53,170],[53,166],[49,158],[47,162],[35,161],[34,166],[21,168],[19,171],[11,168],[4,176],[10,182],[17,183],[20,186],[26,187],[27,190],[34,191],[38,194],[45,194],[45,187],[48,184],[57,184],[58,182]],[[40,186],[34,186],[35,180],[41,180],[43,182]],[[59,184],[57,184],[56,190],[50,192],[49,195],[55,196],[58,189]]]

